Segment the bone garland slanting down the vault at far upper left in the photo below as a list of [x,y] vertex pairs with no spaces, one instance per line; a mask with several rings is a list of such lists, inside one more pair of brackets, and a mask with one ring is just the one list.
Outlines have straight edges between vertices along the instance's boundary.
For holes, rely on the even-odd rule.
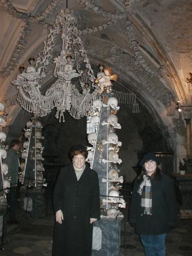
[[0,76],[6,77],[11,74],[11,71],[16,67],[19,63],[19,59],[27,45],[27,32],[29,30],[29,23],[25,23],[22,27],[22,30],[19,32],[19,39],[17,46],[15,46],[13,53],[9,59],[9,62],[3,69],[0,71]]

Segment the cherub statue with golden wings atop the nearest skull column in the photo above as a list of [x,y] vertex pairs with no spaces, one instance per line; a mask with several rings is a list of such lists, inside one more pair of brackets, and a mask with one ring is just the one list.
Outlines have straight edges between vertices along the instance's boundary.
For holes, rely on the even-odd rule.
[[113,74],[111,71],[110,67],[105,67],[105,69],[103,69],[104,71],[104,75],[101,75],[101,77],[99,78],[99,86],[100,86],[100,90],[99,93],[103,93],[103,91],[105,90],[105,87],[110,87],[110,90],[112,90],[112,81],[117,81],[117,75]]

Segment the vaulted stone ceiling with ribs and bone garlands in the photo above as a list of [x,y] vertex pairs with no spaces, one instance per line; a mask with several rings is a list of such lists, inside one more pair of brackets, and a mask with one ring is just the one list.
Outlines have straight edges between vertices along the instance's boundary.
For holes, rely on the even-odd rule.
[[[173,126],[167,106],[177,100],[191,104],[186,83],[192,71],[190,0],[2,0],[0,100],[17,93],[10,82],[19,65],[26,67],[31,55],[37,57],[49,26],[66,5],[78,19],[95,73],[98,63],[110,66],[118,75],[115,89],[136,93],[141,108]],[[7,109],[8,125],[19,110],[17,105]]]

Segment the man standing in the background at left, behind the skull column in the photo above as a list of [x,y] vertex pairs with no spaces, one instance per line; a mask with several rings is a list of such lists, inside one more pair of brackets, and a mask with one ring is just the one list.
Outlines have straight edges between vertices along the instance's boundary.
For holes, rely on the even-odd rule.
[[18,139],[13,139],[10,143],[10,149],[7,151],[7,158],[3,161],[8,166],[8,175],[11,177],[10,189],[7,195],[9,203],[9,222],[10,224],[18,224],[16,218],[16,202],[17,202],[17,184],[18,184],[18,171],[19,171],[19,158],[18,151],[20,150],[21,142]]

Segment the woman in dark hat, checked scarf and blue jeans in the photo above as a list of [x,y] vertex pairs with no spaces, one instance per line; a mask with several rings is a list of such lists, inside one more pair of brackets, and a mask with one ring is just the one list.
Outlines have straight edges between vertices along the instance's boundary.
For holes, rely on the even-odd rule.
[[144,155],[130,206],[130,223],[141,238],[146,256],[165,256],[165,237],[177,223],[177,203],[171,178],[161,173],[159,159]]

